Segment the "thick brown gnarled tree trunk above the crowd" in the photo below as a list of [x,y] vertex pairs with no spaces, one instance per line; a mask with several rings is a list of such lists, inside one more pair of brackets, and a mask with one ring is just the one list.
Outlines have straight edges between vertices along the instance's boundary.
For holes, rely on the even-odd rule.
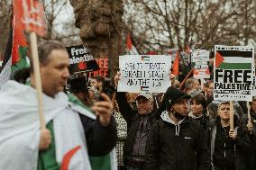
[[84,45],[95,58],[108,58],[110,76],[123,50],[122,0],[70,0]]

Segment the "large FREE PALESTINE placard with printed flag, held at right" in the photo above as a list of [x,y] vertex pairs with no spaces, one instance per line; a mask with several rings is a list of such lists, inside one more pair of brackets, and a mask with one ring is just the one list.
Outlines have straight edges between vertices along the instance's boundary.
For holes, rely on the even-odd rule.
[[251,101],[253,67],[253,47],[216,45],[214,99]]

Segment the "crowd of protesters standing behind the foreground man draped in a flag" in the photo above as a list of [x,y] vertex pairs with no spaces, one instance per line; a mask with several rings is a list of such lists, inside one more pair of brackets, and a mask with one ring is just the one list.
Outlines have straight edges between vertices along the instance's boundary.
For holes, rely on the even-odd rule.
[[213,80],[190,77],[180,88],[170,75],[166,93],[132,94],[114,91],[120,77],[114,76],[113,83],[101,76],[90,78],[90,97],[81,99],[87,104],[101,92],[111,97],[119,169],[256,169],[256,97],[250,103],[251,122],[246,103],[234,102],[230,130],[230,103],[214,101]]

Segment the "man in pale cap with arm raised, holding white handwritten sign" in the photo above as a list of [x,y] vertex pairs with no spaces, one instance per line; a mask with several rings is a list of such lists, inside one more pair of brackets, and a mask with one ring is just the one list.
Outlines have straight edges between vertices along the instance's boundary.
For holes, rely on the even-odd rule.
[[[114,76],[116,86],[119,79],[120,74]],[[127,166],[127,170],[144,170],[148,134],[156,121],[155,114],[152,112],[152,95],[138,94],[135,99],[137,111],[133,110],[127,102],[125,93],[117,92],[115,99],[128,127],[128,134],[123,147],[123,163]]]

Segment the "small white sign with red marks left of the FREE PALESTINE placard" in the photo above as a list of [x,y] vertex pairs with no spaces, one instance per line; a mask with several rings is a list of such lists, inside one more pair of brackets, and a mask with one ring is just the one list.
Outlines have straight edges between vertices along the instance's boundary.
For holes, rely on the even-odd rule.
[[210,51],[205,49],[195,49],[191,53],[191,61],[193,63],[193,76],[200,78],[210,78],[210,71],[208,67]]

